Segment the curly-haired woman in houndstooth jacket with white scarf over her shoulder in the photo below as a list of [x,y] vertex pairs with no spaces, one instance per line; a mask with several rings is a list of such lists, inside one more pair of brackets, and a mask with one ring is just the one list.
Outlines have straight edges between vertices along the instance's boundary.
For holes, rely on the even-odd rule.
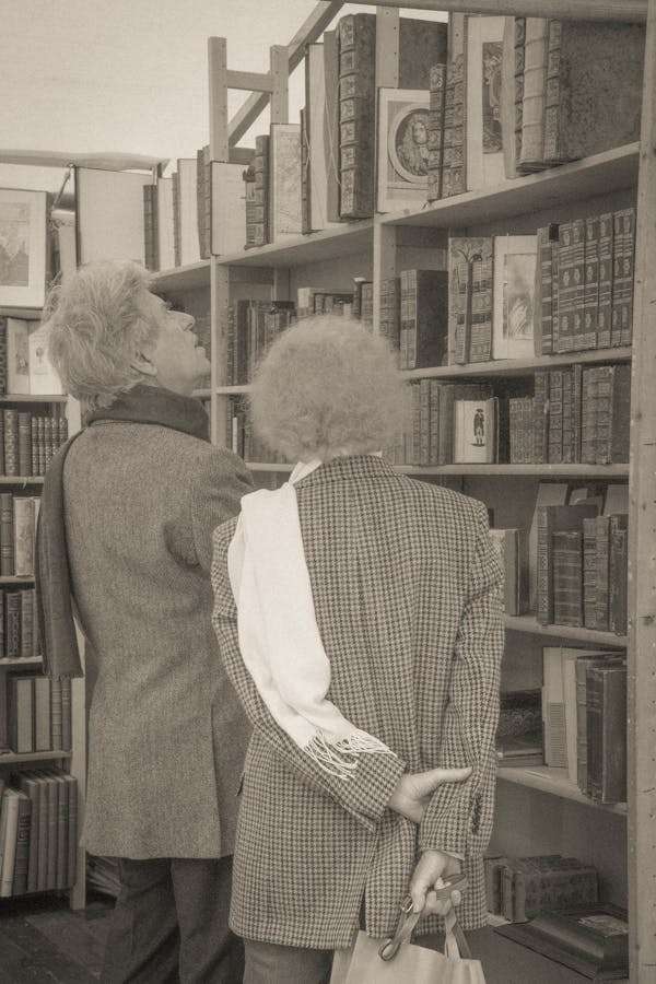
[[290,482],[214,534],[213,623],[254,725],[231,925],[247,984],[318,984],[362,923],[420,933],[459,870],[485,921],[502,575],[485,507],[380,456],[408,403],[386,342],[342,318],[273,344],[251,395]]

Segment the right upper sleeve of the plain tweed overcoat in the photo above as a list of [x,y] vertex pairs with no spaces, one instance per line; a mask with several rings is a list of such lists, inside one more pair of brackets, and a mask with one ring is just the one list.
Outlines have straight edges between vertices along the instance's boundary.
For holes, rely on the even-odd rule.
[[191,529],[200,566],[210,572],[212,535],[218,526],[239,512],[243,495],[253,492],[250,472],[237,455],[212,448],[191,477]]

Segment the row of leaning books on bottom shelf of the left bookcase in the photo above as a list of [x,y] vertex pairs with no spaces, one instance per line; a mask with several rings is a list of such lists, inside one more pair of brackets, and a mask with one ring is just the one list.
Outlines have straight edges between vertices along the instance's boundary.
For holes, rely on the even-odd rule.
[[0,898],[75,881],[78,781],[55,770],[0,777]]

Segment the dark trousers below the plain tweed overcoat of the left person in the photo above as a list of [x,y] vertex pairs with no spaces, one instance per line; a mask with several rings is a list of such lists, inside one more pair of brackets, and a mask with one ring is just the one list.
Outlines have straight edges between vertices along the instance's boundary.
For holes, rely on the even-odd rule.
[[119,858],[103,984],[241,984],[227,926],[232,857]]

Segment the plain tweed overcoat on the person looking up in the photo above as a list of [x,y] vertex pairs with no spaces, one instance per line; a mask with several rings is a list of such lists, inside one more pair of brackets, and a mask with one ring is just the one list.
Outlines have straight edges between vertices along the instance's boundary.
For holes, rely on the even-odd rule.
[[103,421],[63,471],[87,677],[83,840],[94,854],[232,853],[249,726],[212,631],[214,528],[251,482],[230,452],[169,427]]

